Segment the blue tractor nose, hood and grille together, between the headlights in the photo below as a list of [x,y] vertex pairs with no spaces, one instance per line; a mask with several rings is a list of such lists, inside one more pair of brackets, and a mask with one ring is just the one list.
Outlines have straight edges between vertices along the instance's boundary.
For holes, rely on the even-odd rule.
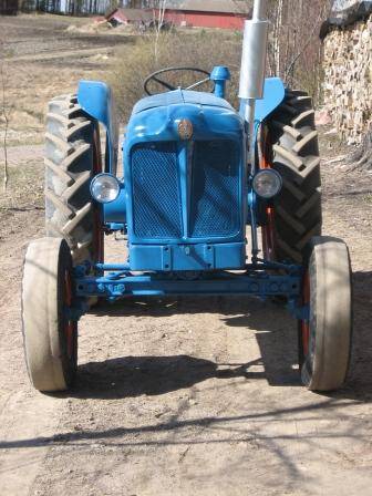
[[[193,125],[192,140],[179,136],[178,124],[183,120]],[[220,153],[226,147],[231,149],[226,156],[230,163],[225,168],[215,157],[214,178],[206,177],[208,170],[204,164],[193,158],[200,146],[210,143]],[[244,143],[241,117],[215,95],[176,90],[135,105],[123,158],[132,270],[244,267],[247,195]],[[209,152],[214,154],[214,148]],[[204,159],[208,162],[208,157]],[[204,188],[208,188],[208,180],[215,182],[208,190],[210,198],[203,196],[204,192],[197,197],[196,179],[204,182]],[[220,226],[214,231],[206,226],[204,230],[197,228],[194,220],[202,213],[195,208],[203,209],[210,223],[209,214],[214,210],[220,217]]]

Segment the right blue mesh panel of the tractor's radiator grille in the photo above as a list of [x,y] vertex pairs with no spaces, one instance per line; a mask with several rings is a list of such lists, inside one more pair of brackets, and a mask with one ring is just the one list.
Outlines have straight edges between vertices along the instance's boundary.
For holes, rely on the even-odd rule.
[[190,237],[239,230],[239,149],[230,141],[195,142]]

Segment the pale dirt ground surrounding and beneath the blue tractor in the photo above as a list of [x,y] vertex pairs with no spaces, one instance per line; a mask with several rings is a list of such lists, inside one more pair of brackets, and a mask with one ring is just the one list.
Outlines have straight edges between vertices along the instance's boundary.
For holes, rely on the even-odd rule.
[[[4,21],[12,32],[29,25],[0,19],[0,30]],[[42,39],[24,29],[28,46],[58,38],[49,22],[56,21],[37,24]],[[49,82],[56,87],[60,78],[68,92],[104,71],[101,60],[62,60],[10,64],[11,74],[18,63],[28,73],[14,84],[14,112],[42,113]],[[32,97],[28,81],[37,85]],[[30,388],[20,329],[22,258],[43,235],[42,123],[35,117],[25,138],[21,121],[12,125],[9,193],[0,197],[1,495],[370,495],[372,175],[337,162],[345,151],[322,137],[324,232],[349,244],[354,280],[354,348],[341,391],[300,385],[296,322],[281,306],[231,297],[99,307],[80,323],[75,388],[42,395]],[[123,241],[108,240],[112,257],[123,250]]]

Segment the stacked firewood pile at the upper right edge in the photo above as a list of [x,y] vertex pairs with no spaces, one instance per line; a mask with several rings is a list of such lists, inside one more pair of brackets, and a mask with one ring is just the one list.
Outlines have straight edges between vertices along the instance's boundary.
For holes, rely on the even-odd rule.
[[324,105],[348,144],[360,144],[372,126],[372,16],[324,39]]

